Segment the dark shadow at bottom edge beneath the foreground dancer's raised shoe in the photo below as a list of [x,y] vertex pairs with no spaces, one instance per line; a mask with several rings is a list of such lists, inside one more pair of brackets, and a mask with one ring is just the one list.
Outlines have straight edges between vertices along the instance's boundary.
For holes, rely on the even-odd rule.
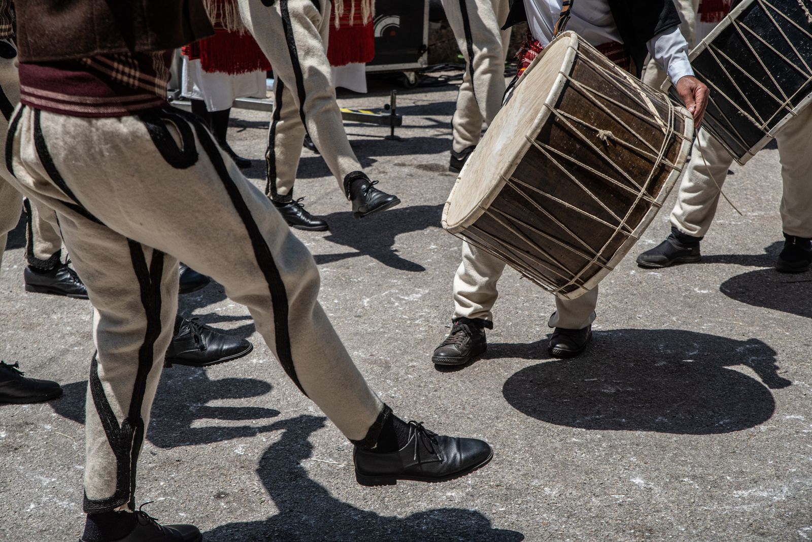
[[[322,428],[325,419],[303,415],[285,419],[272,428],[283,431],[270,445],[257,468],[262,484],[279,510],[265,521],[227,523],[205,533],[206,542],[264,542],[270,540],[524,540],[516,531],[491,527],[490,520],[476,510],[440,508],[411,514],[406,518],[382,516],[339,501],[311,480],[301,462],[313,454],[310,434]],[[352,471],[337,471],[352,476]],[[412,484],[406,482],[406,484]],[[426,491],[437,486],[430,486]],[[379,499],[394,493],[390,488],[361,488]],[[435,489],[434,491],[439,491]],[[396,497],[395,497],[396,498]]]

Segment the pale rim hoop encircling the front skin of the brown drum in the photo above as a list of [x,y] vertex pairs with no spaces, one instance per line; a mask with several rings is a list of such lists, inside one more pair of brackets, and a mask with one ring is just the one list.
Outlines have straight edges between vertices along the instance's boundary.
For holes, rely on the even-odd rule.
[[[570,40],[569,45],[567,46],[567,51],[564,54],[564,58],[562,59],[561,66],[568,67],[568,71],[572,71],[572,67],[575,65],[575,58],[578,54],[578,49],[580,49],[581,45],[581,37],[578,36],[577,33],[572,31],[562,32],[559,36],[555,37],[553,41],[550,42],[544,49],[542,49],[541,53],[538,54],[536,58],[533,58],[533,62],[530,63],[528,70],[534,67],[538,62],[541,62],[541,59],[544,58],[545,54],[548,54],[552,50],[552,45],[555,44],[557,41],[564,40],[568,38]],[[555,105],[555,101],[558,101],[558,98],[561,96],[561,92],[564,89],[566,84],[566,77],[559,73],[555,77],[555,81],[553,82],[550,92],[547,93],[547,97],[544,100],[544,107],[542,107],[541,112],[539,112],[538,116],[533,120],[533,123],[530,124],[528,131],[536,131],[537,129],[540,130],[541,127],[547,122],[551,115],[551,108]],[[523,82],[523,80],[519,80],[516,83],[516,88],[519,88],[519,85]],[[516,92],[514,90],[513,92]],[[555,100],[551,101],[551,97],[555,95]],[[501,111],[501,110],[500,110]],[[518,147],[513,155],[512,158],[512,165],[508,170],[505,170],[505,174],[510,177],[513,174],[513,171],[516,170],[516,167],[519,166],[520,160],[517,159],[518,157],[524,157],[527,153],[527,149],[530,147],[530,142],[525,138],[521,142],[520,147]],[[474,153],[477,151],[474,150]],[[472,154],[473,156],[473,154]],[[451,234],[460,234],[471,226],[474,222],[479,220],[479,217],[482,217],[482,214],[485,213],[485,210],[482,209],[484,205],[486,208],[490,207],[490,204],[494,202],[497,196],[499,196],[499,192],[502,191],[502,188],[505,185],[504,177],[499,179],[498,182],[494,183],[493,186],[490,187],[488,192],[485,196],[482,196],[482,200],[480,200],[479,204],[475,206],[473,209],[469,211],[467,215],[465,215],[460,220],[456,221],[454,226],[448,225],[448,213],[451,209],[451,200],[454,199],[454,194],[458,187],[460,187],[460,181],[463,179],[463,174],[465,173],[466,167],[469,166],[471,160],[465,161],[464,166],[462,166],[462,170],[457,175],[456,181],[454,182],[454,187],[451,188],[451,193],[448,195],[448,199],[446,200],[445,205],[443,206],[443,217],[441,219],[443,229],[449,231]]]

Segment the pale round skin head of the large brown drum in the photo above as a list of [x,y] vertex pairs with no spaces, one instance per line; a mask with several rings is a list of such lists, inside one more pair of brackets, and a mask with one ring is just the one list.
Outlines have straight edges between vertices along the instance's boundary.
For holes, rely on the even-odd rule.
[[577,41],[574,32],[564,32],[542,50],[490,123],[448,198],[443,227],[451,233],[482,215],[525,156],[527,138],[533,139],[550,115],[544,104],[553,106],[558,101],[565,81],[559,72],[570,71]]

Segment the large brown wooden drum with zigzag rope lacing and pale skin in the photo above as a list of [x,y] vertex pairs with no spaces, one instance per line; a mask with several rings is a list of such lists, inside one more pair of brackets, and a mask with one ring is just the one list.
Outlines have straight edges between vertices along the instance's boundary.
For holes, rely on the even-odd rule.
[[662,206],[693,120],[573,32],[530,65],[460,171],[443,227],[568,299]]

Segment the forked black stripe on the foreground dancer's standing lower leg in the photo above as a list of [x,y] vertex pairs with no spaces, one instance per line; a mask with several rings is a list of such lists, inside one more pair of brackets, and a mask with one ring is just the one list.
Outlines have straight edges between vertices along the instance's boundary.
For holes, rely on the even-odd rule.
[[116,482],[115,493],[112,497],[91,500],[85,494],[84,511],[87,514],[110,512],[125,504],[128,504],[131,509],[135,508],[136,467],[145,434],[141,409],[144,407],[147,378],[155,361],[155,342],[161,334],[161,279],[164,254],[153,249],[152,261],[148,267],[144,248],[140,243],[127,239],[127,246],[130,249],[132,269],[140,287],[141,305],[144,307],[147,325],[144,342],[141,343],[138,350],[138,370],[132,385],[130,407],[127,417],[123,419],[120,426],[98,375],[97,356],[93,355],[93,362],[90,366],[90,394],[116,459]]

